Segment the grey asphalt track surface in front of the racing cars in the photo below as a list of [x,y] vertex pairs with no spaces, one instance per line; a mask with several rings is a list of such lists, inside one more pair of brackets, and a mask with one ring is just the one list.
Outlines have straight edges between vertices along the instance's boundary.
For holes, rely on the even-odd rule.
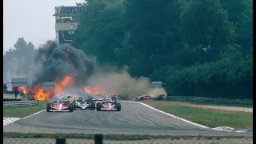
[[121,111],[43,111],[4,126],[4,132],[84,133],[84,134],[171,134],[211,136],[252,136],[194,126],[134,102],[121,102]]

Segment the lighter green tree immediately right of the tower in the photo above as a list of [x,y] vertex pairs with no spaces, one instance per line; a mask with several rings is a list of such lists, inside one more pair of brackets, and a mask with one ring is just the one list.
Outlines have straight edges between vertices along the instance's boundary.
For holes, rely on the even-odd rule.
[[114,62],[114,49],[120,46],[126,30],[123,3],[119,0],[88,1],[74,46],[99,62]]

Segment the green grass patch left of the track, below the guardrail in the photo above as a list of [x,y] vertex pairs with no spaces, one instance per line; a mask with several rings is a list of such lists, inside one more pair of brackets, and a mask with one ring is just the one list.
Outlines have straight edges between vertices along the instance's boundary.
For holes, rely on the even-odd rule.
[[30,114],[34,114],[40,110],[46,109],[47,102],[38,102],[34,106],[20,106],[20,107],[4,107],[3,116],[4,117],[15,117],[24,118]]

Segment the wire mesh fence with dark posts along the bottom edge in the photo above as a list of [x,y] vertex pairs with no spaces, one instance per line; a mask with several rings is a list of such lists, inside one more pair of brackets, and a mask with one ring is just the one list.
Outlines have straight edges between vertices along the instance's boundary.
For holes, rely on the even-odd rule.
[[108,141],[102,135],[95,135],[94,140],[82,138],[3,138],[4,144],[253,144],[253,138],[174,138],[136,141]]

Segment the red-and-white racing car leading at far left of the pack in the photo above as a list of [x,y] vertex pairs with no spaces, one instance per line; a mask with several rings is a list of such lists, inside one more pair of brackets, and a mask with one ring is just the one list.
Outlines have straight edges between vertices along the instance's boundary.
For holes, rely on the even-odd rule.
[[74,111],[74,106],[70,105],[70,102],[62,101],[62,100],[54,100],[54,102],[47,103],[46,111]]

